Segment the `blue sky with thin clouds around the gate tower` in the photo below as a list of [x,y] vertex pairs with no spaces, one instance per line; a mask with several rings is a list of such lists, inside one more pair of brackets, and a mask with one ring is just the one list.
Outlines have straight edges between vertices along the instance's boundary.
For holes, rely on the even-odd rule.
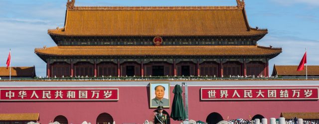
[[[11,48],[11,66],[36,67],[46,75],[46,64],[34,48],[56,44],[47,29],[63,27],[67,0],[1,0],[0,66]],[[267,28],[258,45],[282,47],[273,65],[298,65],[307,48],[308,65],[319,65],[319,0],[245,0],[251,27]],[[192,6],[236,5],[236,0],[76,0],[77,6]],[[1,63],[2,62],[2,63]]]

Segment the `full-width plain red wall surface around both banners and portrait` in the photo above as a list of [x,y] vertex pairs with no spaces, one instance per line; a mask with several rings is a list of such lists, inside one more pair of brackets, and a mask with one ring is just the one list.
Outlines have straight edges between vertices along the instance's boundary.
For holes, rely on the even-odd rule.
[[[218,88],[216,86],[189,86],[189,119],[203,122],[210,113],[219,113],[224,120],[250,119],[260,114],[265,118],[279,118],[281,112],[319,112],[318,100],[287,100],[287,101],[200,101],[200,88]],[[236,86],[239,87],[239,86]],[[241,87],[297,87],[297,86],[241,86]],[[319,86],[298,86],[319,87]],[[0,87],[10,88],[10,87]],[[15,89],[17,87],[14,87]],[[25,87],[18,87],[25,88]],[[27,87],[30,88],[30,87]],[[39,88],[39,87],[37,87]],[[40,87],[61,88],[61,87]],[[68,88],[68,87],[63,87]],[[77,88],[77,87],[72,87]],[[78,87],[87,88],[87,87]],[[68,119],[69,124],[81,124],[83,121],[96,123],[101,113],[110,114],[116,124],[140,123],[153,119],[153,111],[149,108],[148,86],[111,86],[90,88],[119,88],[119,101],[102,102],[0,102],[0,113],[39,113],[40,123],[47,124],[58,115]],[[225,87],[223,87],[225,88]],[[173,90],[171,86],[170,91]],[[170,105],[173,100],[170,94]],[[170,114],[170,109],[165,109]],[[172,124],[179,124],[171,120]]]

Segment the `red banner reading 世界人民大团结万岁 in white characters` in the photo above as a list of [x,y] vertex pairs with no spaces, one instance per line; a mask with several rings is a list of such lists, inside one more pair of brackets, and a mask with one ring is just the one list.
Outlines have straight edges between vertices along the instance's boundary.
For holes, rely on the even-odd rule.
[[318,88],[201,88],[201,100],[317,100]]

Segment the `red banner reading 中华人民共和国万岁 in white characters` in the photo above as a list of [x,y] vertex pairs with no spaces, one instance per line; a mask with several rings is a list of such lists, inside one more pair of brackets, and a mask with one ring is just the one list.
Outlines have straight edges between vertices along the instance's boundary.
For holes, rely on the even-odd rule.
[[117,101],[119,89],[0,89],[0,101]]

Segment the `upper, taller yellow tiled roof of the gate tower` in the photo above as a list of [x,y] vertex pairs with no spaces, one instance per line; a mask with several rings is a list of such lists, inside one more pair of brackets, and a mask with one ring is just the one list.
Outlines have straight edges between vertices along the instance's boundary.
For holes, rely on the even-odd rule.
[[67,3],[61,36],[254,36],[267,29],[251,28],[244,2],[237,6],[74,6]]

